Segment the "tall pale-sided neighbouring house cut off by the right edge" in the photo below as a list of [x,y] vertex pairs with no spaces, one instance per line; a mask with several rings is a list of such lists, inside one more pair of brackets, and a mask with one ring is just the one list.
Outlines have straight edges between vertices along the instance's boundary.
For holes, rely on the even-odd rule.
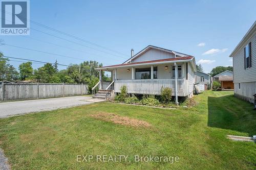
[[256,94],[256,21],[229,57],[233,58],[234,95],[253,103]]

